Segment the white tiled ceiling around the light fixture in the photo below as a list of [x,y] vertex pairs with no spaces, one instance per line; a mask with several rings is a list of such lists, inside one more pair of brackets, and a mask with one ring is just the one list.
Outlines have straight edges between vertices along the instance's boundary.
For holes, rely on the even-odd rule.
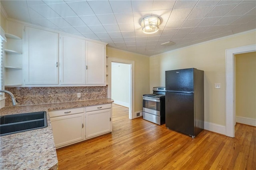
[[[256,29],[255,0],[1,0],[8,18],[155,55]],[[140,21],[159,16],[155,34]],[[170,46],[161,45],[174,42]]]

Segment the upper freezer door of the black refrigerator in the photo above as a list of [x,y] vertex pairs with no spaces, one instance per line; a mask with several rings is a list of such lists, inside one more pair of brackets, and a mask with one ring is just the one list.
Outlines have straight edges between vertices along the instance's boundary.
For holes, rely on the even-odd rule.
[[194,91],[194,68],[165,71],[167,91]]

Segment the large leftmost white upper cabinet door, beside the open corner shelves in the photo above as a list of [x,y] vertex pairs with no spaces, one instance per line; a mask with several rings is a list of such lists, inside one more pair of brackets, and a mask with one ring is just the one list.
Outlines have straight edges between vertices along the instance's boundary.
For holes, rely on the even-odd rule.
[[26,27],[25,84],[58,84],[58,34]]

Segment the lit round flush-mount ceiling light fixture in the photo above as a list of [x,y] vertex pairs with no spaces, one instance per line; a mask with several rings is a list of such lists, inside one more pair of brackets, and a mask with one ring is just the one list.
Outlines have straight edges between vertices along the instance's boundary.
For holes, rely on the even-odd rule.
[[160,22],[161,20],[157,16],[147,16],[143,18],[140,22],[142,32],[145,34],[154,34],[155,32],[158,32]]

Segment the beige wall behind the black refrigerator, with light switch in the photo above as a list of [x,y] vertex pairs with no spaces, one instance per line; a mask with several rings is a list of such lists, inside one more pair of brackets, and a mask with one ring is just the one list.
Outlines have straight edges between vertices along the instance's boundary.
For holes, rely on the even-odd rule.
[[[150,57],[150,88],[165,86],[165,71],[183,68],[204,70],[204,120],[226,124],[226,49],[256,43],[256,32],[202,43]],[[215,89],[214,83],[221,88]]]

